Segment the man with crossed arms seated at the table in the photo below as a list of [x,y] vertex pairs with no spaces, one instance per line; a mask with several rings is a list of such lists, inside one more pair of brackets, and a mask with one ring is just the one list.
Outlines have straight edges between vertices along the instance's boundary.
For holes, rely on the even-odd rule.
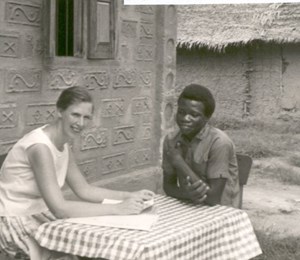
[[208,124],[215,110],[211,92],[197,84],[178,98],[176,123],[163,147],[163,188],[167,195],[195,204],[239,205],[235,147],[220,129]]

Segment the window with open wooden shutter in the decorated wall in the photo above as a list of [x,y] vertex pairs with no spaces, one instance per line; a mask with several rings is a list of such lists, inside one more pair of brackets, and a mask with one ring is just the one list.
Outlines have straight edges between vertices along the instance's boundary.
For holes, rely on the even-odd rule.
[[48,0],[47,14],[50,57],[114,58],[115,0]]

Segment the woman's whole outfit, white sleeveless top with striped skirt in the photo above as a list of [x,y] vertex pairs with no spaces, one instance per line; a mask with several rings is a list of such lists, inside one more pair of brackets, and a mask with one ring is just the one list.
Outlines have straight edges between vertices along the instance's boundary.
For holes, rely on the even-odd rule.
[[27,149],[38,143],[48,146],[60,187],[67,174],[68,144],[59,151],[43,131],[44,127],[21,138],[0,170],[0,251],[15,259],[29,259],[30,243],[38,226],[56,219],[39,192]]

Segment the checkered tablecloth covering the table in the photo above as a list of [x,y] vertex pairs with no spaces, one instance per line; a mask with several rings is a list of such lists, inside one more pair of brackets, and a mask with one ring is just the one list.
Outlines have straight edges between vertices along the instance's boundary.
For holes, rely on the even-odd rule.
[[243,260],[261,254],[242,210],[162,195],[155,204],[159,220],[150,232],[58,220],[41,225],[35,238],[51,250],[110,260]]

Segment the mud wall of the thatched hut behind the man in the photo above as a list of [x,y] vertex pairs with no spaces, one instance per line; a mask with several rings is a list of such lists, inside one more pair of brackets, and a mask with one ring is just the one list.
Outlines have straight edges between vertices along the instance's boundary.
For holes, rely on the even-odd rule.
[[217,100],[215,117],[298,117],[299,46],[252,44],[224,53],[177,51],[177,92],[198,82]]

